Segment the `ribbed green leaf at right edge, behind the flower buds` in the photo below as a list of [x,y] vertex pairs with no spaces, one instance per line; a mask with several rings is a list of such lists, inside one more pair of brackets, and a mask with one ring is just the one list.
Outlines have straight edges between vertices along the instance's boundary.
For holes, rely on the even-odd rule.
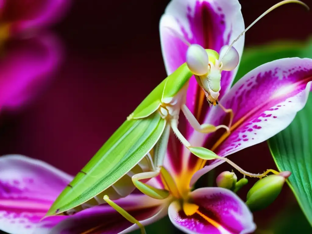
[[287,183],[312,225],[312,95],[293,122],[268,140],[277,168],[292,174]]

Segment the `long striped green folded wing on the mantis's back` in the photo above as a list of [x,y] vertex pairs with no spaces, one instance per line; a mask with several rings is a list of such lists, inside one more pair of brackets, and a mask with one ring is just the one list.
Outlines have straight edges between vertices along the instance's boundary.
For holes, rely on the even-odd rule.
[[154,147],[165,125],[158,112],[125,121],[63,190],[46,216],[77,207],[114,184]]

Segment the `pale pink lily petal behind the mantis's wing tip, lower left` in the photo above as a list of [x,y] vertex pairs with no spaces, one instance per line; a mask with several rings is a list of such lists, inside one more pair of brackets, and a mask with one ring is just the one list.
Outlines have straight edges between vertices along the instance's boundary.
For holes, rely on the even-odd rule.
[[52,202],[72,177],[47,163],[21,155],[0,157],[0,230],[46,233],[66,217],[51,217],[40,224]]

